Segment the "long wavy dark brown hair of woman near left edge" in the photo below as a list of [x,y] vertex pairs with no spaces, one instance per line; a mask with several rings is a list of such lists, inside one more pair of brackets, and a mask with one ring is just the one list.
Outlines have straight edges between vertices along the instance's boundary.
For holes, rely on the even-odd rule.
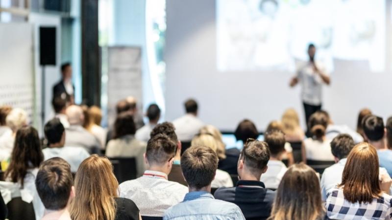
[[44,154],[37,130],[31,126],[22,127],[16,132],[11,162],[4,176],[11,182],[20,182],[23,187],[27,170],[39,167],[42,161]]

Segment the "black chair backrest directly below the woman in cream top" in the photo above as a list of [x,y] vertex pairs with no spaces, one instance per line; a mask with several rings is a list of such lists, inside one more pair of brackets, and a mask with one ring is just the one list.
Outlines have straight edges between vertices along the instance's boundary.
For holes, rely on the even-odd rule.
[[136,179],[135,157],[113,157],[109,158],[113,164],[113,173],[119,184],[131,179]]

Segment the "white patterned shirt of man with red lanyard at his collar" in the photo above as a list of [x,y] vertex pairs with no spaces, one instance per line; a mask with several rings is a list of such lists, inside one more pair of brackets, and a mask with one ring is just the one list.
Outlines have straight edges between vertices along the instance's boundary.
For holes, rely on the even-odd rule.
[[162,172],[147,170],[143,176],[120,184],[120,197],[135,202],[141,216],[162,217],[166,209],[184,200],[188,187],[168,180]]

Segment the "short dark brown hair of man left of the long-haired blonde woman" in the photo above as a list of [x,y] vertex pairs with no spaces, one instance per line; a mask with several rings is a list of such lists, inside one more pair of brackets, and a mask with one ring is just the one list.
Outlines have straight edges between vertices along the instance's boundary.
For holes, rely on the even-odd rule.
[[44,161],[35,179],[39,197],[48,210],[64,209],[73,185],[70,164],[60,157]]

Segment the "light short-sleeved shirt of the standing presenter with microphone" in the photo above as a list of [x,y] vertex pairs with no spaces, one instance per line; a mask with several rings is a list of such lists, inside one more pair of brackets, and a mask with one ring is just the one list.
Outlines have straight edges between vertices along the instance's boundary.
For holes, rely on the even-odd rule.
[[[316,66],[324,74],[328,74],[324,65],[316,61]],[[310,61],[299,68],[297,78],[302,86],[302,101],[309,105],[320,105],[322,102],[321,87],[323,81],[319,74],[315,73],[313,64]]]

